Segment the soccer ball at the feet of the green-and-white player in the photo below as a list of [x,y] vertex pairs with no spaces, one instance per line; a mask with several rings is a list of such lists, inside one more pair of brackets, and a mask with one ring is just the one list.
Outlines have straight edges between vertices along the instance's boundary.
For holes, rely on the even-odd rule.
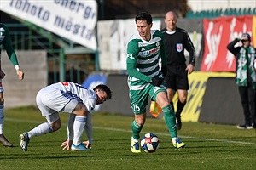
[[142,149],[148,153],[158,150],[159,145],[160,139],[154,133],[146,133],[141,140]]

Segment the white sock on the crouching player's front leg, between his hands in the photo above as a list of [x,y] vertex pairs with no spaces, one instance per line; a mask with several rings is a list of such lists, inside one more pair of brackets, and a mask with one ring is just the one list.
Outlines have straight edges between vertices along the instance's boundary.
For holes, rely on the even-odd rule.
[[85,124],[85,116],[76,116],[75,121],[73,122],[73,144],[81,144],[81,138],[84,133]]

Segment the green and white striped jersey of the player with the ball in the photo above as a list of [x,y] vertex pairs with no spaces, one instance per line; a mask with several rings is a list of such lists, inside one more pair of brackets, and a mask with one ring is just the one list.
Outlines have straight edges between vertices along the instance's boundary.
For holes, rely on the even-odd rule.
[[134,34],[127,45],[126,66],[128,85],[131,90],[141,90],[148,87],[152,77],[162,77],[160,62],[166,65],[166,47],[163,34],[151,30],[151,39],[147,42]]

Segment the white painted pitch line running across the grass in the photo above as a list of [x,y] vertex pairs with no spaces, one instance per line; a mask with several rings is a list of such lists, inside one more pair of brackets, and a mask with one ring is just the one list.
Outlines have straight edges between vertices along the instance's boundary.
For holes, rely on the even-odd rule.
[[[31,123],[42,123],[39,121],[28,121],[28,120],[20,120],[20,119],[12,119],[12,118],[5,118],[5,121],[11,121],[11,122],[31,122]],[[67,123],[61,123],[64,126],[67,126]],[[119,131],[119,132],[125,132],[125,133],[131,133],[131,130],[125,130],[121,128],[113,128],[113,127],[93,127],[95,129],[102,129],[102,130],[110,130],[110,131]],[[143,132],[142,132],[143,133]],[[169,133],[158,133],[162,136],[170,136]],[[207,138],[198,138],[198,137],[192,137],[192,136],[179,136],[184,139],[201,139],[201,140],[207,140],[207,141],[216,141],[216,142],[224,142],[224,143],[233,143],[233,144],[249,144],[249,145],[256,145],[256,143],[251,142],[241,142],[241,141],[233,141],[233,140],[225,140],[225,139],[207,139]]]

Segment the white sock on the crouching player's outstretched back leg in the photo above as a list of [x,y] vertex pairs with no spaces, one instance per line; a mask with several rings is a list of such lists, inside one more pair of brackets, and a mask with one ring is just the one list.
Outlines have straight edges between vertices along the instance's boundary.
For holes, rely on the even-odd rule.
[[49,126],[48,122],[44,122],[37,127],[34,127],[31,131],[28,132],[28,138],[32,138],[34,136],[40,136],[46,133],[52,133],[53,129]]

